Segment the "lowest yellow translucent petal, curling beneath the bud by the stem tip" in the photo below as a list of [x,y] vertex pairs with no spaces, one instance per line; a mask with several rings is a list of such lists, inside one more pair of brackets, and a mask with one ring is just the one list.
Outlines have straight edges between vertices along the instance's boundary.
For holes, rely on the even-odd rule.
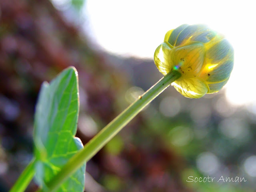
[[188,98],[200,98],[209,91],[208,85],[199,77],[178,79],[172,85],[181,95]]

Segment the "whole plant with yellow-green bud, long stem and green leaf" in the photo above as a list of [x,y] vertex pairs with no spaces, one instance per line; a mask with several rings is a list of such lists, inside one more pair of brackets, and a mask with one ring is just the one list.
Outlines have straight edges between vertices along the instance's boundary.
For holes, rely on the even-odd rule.
[[148,103],[169,85],[189,98],[220,91],[233,69],[234,50],[224,36],[207,26],[185,24],[166,33],[156,48],[154,62],[164,77],[84,147],[74,137],[79,110],[76,69],[70,67],[50,84],[44,83],[35,114],[35,158],[10,192],[23,192],[34,174],[38,191],[84,191],[86,162]]

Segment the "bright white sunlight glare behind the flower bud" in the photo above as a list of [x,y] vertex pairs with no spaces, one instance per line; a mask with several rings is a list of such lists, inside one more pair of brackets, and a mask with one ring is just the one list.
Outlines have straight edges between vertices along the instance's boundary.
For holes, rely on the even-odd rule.
[[87,0],[85,14],[96,42],[122,56],[153,59],[165,33],[181,24],[207,24],[224,34],[235,50],[226,97],[239,105],[256,103],[254,8],[246,0]]

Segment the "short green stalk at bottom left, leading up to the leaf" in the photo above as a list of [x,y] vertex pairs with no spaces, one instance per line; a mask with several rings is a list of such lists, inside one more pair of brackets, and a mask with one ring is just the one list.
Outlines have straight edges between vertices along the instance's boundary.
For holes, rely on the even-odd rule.
[[14,186],[12,186],[9,192],[24,192],[24,190],[28,187],[28,184],[32,180],[35,174],[35,159],[33,158],[28,166],[24,169],[18,180],[15,182]]

